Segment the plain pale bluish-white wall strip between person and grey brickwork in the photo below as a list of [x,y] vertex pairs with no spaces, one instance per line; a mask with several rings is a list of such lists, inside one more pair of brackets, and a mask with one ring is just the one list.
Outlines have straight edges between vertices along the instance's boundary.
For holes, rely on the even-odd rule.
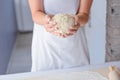
[[101,64],[106,53],[106,0],[93,0],[90,25],[86,30],[91,64]]

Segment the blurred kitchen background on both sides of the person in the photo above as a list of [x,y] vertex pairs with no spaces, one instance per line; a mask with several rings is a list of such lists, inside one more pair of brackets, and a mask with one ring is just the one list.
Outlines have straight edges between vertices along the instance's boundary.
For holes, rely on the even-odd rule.
[[[30,72],[32,33],[27,0],[1,0],[0,74]],[[91,64],[120,60],[120,0],[94,0],[86,36]]]

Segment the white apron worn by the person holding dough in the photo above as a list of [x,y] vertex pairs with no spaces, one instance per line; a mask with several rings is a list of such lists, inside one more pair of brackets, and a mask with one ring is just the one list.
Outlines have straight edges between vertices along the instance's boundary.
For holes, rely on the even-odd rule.
[[[79,0],[44,0],[47,14],[76,14]],[[34,23],[31,71],[79,67],[89,64],[84,27],[76,34],[60,38]]]

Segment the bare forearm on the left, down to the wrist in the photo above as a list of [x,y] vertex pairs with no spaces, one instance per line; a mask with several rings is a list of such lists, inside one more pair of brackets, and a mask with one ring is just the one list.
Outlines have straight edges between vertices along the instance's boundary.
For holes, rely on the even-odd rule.
[[45,13],[43,0],[28,0],[33,22],[43,25],[45,24]]

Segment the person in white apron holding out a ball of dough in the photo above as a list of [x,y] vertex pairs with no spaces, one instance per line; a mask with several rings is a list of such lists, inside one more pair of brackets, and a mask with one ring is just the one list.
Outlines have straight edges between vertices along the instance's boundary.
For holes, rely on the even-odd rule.
[[[32,70],[79,67],[89,64],[84,25],[92,0],[29,0],[34,21]],[[58,13],[72,15],[75,25],[66,34],[57,31],[51,18]]]

